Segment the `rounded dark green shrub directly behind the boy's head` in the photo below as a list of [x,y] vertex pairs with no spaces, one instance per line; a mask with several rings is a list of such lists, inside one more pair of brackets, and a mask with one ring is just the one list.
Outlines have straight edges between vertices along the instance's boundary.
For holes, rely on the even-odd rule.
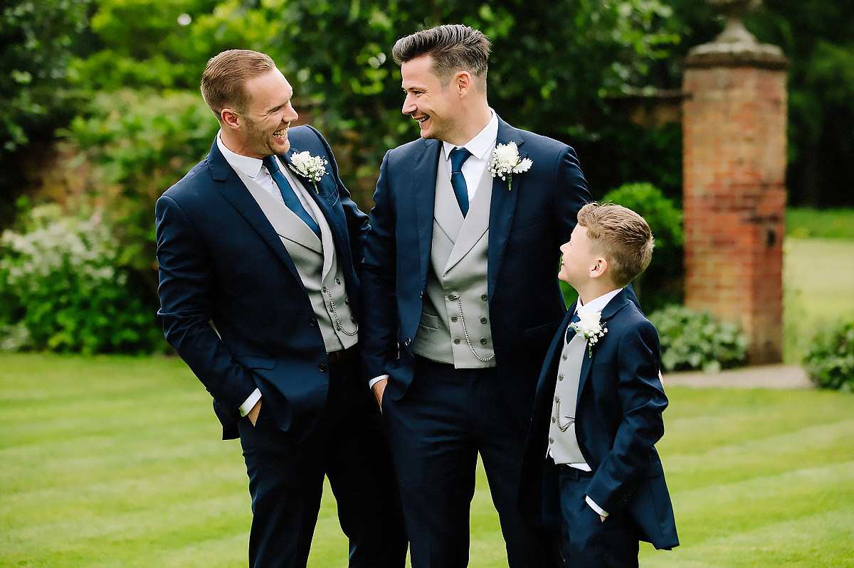
[[639,213],[655,237],[652,262],[632,283],[644,311],[652,313],[669,304],[681,304],[685,275],[681,211],[652,183],[626,183],[605,194],[603,201]]

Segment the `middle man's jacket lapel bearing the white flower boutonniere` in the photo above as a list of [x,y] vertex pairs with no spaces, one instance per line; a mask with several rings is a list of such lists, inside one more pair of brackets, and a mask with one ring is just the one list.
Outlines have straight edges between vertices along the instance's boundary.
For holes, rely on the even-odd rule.
[[[513,128],[501,119],[498,119],[497,144],[516,142],[519,155],[522,158],[528,156],[524,148],[524,137],[522,131]],[[507,237],[510,235],[510,227],[513,223],[513,213],[516,211],[516,199],[518,195],[519,176],[512,177],[512,186],[507,189],[507,181],[500,177],[492,180],[492,204],[489,209],[489,261],[488,261],[488,297],[491,300],[498,280],[498,272],[504,251],[507,246]]]

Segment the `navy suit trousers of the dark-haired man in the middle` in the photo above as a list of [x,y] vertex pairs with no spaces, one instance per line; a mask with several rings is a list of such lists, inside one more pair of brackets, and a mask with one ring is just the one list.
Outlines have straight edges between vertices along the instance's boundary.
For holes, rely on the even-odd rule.
[[549,568],[559,545],[519,512],[526,433],[512,420],[494,368],[455,369],[416,357],[401,400],[383,398],[410,538],[412,568],[463,568],[477,455],[500,517],[510,568]]

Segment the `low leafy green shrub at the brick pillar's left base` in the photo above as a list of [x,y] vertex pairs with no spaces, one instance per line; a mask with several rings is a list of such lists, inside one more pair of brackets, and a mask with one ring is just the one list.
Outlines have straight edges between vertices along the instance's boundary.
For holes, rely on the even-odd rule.
[[717,373],[745,362],[747,337],[735,323],[717,322],[711,314],[681,305],[658,310],[649,320],[658,329],[665,371]]

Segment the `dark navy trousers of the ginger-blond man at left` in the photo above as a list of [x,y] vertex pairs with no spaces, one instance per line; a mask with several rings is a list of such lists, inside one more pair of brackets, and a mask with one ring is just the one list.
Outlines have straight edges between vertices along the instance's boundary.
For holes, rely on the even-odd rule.
[[[251,568],[304,568],[324,477],[349,539],[350,568],[403,568],[407,540],[377,403],[353,362],[330,363],[326,406],[304,440],[282,432],[263,399],[255,426],[238,423],[252,496]],[[370,491],[387,487],[387,491]],[[342,551],[342,565],[344,551]]]

